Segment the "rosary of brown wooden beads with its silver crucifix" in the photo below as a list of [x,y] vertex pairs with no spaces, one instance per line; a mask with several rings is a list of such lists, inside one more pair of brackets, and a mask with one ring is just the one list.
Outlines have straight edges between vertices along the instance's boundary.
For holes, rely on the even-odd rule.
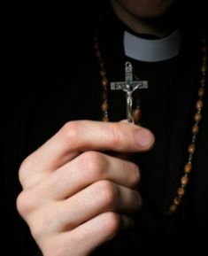
[[[103,88],[102,99],[103,103],[101,105],[101,109],[103,112],[103,120],[109,121],[108,117],[108,87],[109,81],[107,80],[106,70],[104,68],[104,59],[102,57],[101,51],[99,49],[98,43],[98,33],[96,31],[96,35],[94,37],[94,47],[96,50],[96,57],[99,61],[100,66],[100,74],[101,74],[101,85]],[[173,214],[177,211],[178,207],[181,205],[181,199],[183,198],[186,187],[189,183],[189,175],[192,171],[192,161],[196,152],[196,136],[199,132],[199,123],[202,120],[202,109],[203,109],[203,99],[204,99],[204,87],[206,83],[206,72],[207,72],[207,41],[206,37],[202,36],[201,40],[201,64],[200,64],[200,81],[197,90],[197,99],[196,99],[196,112],[193,116],[193,126],[191,128],[191,138],[190,144],[187,148],[188,151],[188,159],[186,164],[183,167],[183,173],[181,175],[180,184],[178,189],[176,190],[175,196],[173,197],[173,201],[167,213]],[[133,110],[133,92],[135,89],[147,89],[148,81],[133,81],[133,66],[130,62],[126,62],[125,64],[125,81],[113,81],[110,83],[111,89],[122,89],[126,93],[126,105],[127,105],[127,121],[129,123],[138,123],[140,121],[140,109]]]

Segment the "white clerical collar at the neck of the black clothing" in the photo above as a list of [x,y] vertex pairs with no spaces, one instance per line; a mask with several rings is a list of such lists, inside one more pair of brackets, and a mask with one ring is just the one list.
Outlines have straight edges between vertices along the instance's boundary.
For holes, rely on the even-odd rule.
[[124,52],[127,57],[146,62],[176,57],[181,48],[181,34],[175,30],[162,39],[144,39],[125,31]]

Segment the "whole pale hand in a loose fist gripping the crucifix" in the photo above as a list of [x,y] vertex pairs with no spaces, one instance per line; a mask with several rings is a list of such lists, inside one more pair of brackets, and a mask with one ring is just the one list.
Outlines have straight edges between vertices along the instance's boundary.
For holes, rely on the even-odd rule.
[[44,256],[87,256],[142,204],[139,168],[105,151],[148,151],[154,136],[125,122],[65,124],[19,168],[17,208]]

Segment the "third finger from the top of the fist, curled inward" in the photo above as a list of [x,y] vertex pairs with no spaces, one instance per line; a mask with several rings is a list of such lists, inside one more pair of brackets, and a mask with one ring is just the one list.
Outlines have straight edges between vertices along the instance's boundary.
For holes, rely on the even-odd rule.
[[54,204],[50,215],[46,215],[48,221],[45,221],[52,224],[45,227],[45,231],[71,230],[100,213],[133,213],[141,204],[141,196],[135,190],[109,181],[96,182],[73,197]]

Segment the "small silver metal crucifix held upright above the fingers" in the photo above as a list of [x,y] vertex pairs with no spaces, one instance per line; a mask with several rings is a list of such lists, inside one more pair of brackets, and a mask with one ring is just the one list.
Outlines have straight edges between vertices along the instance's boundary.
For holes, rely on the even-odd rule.
[[125,64],[125,81],[112,81],[111,89],[122,89],[127,97],[127,121],[134,123],[133,117],[133,92],[135,89],[147,89],[148,81],[133,81],[133,67],[129,61]]

